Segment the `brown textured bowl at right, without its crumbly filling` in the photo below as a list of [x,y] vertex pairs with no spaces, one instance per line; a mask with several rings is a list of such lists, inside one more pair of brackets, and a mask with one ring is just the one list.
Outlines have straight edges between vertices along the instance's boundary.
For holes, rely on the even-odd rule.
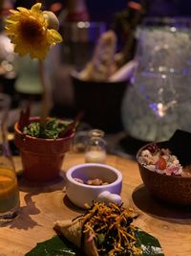
[[[145,145],[138,151],[137,161],[140,152],[147,149],[149,145]],[[157,145],[159,148],[169,149],[176,155],[170,149],[171,144],[168,144],[168,142],[158,143]],[[178,157],[178,159],[180,158]],[[161,175],[149,170],[139,161],[138,169],[145,187],[154,198],[179,206],[191,205],[191,176]]]

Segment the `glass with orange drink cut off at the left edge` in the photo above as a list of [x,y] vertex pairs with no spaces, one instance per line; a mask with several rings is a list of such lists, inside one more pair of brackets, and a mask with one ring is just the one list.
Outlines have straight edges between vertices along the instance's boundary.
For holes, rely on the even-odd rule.
[[20,208],[14,163],[8,141],[10,101],[0,93],[0,225],[14,220]]

